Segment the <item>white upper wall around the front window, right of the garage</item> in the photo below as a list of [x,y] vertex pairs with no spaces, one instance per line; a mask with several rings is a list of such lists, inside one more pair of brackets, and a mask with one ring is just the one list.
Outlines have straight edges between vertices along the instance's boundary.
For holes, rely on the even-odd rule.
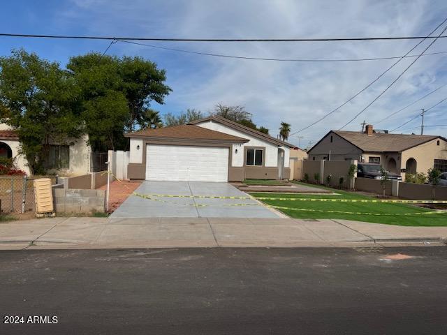
[[[265,147],[265,163],[264,166],[266,168],[272,167],[277,168],[278,166],[278,148],[284,149],[284,168],[288,168],[288,161],[290,158],[290,149],[288,147],[278,147],[275,144],[272,144],[267,141],[263,141],[257,137],[248,135],[247,133],[242,133],[242,131],[237,131],[233,128],[225,126],[223,124],[219,124],[217,122],[212,121],[204,121],[200,124],[196,124],[196,126],[200,126],[203,128],[211,129],[212,131],[220,131],[221,133],[226,133],[230,135],[234,135],[237,137],[247,138],[249,142],[244,144],[233,144],[233,160],[231,165],[233,167],[242,167],[244,166],[244,147]],[[237,149],[237,153],[235,150]]]

